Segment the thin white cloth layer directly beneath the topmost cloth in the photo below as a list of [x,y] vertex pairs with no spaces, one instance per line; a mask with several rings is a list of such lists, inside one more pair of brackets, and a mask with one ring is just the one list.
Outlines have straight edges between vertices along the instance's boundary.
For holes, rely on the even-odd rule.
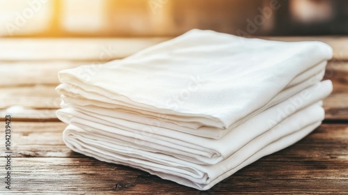
[[[82,109],[88,109],[86,105],[94,105],[96,108],[94,109],[97,114],[105,113],[105,111],[97,111],[98,107],[104,107],[107,109],[113,109],[112,114],[116,115],[118,114],[118,118],[122,118],[125,120],[129,120],[129,118],[132,118],[132,121],[148,124],[151,125],[152,123],[156,123],[155,120],[161,120],[161,123],[159,123],[159,127],[168,128],[175,131],[185,132],[188,134],[195,134],[200,137],[209,137],[214,139],[221,138],[224,134],[228,133],[230,130],[232,130],[235,126],[239,125],[240,123],[243,123],[248,118],[251,118],[255,116],[256,114],[260,113],[264,109],[267,109],[268,107],[273,106],[274,104],[278,104],[279,102],[286,100],[287,98],[291,97],[295,93],[299,93],[299,91],[303,90],[304,88],[311,86],[317,81],[322,80],[324,77],[324,68],[325,68],[326,62],[319,63],[319,65],[316,65],[314,68],[311,68],[310,70],[307,70],[306,72],[303,72],[301,76],[308,75],[309,78],[303,79],[300,77],[296,77],[294,81],[297,81],[298,83],[294,83],[291,86],[287,87],[285,90],[281,91],[274,97],[269,103],[265,104],[262,108],[254,111],[252,114],[249,114],[248,116],[242,118],[235,124],[231,125],[230,127],[226,129],[221,129],[219,127],[207,127],[202,126],[199,123],[184,121],[185,118],[178,118],[177,116],[171,116],[166,114],[155,114],[155,113],[149,113],[145,111],[139,111],[136,109],[127,109],[127,107],[122,107],[118,104],[117,101],[110,100],[109,98],[106,98],[102,95],[98,95],[95,93],[90,93],[88,91],[84,91],[84,89],[80,88],[79,86],[72,86],[69,84],[61,84],[57,87],[58,93],[61,93],[61,98],[63,99],[62,107],[81,107]],[[319,70],[319,72],[318,72]],[[297,79],[299,78],[299,79]],[[300,81],[299,81],[300,80]],[[86,90],[88,90],[88,86],[84,86]],[[188,117],[187,117],[188,118]],[[192,119],[192,118],[191,118]]]

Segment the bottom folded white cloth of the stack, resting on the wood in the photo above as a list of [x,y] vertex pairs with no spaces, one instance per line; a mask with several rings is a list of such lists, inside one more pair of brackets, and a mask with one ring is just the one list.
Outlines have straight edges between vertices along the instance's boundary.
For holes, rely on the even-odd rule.
[[[321,102],[312,104],[292,114],[276,128],[255,137],[216,164],[197,164],[161,153],[161,150],[151,151],[150,147],[124,145],[124,141],[117,139],[117,132],[115,132],[116,136],[111,137],[98,134],[97,131],[87,131],[68,125],[63,133],[63,139],[65,144],[77,153],[95,157],[104,162],[132,166],[182,185],[206,190],[260,157],[299,141],[318,127],[323,119],[324,109],[321,107]],[[240,138],[235,137],[230,140],[230,143],[237,139]],[[226,150],[235,150],[233,144],[223,147]]]

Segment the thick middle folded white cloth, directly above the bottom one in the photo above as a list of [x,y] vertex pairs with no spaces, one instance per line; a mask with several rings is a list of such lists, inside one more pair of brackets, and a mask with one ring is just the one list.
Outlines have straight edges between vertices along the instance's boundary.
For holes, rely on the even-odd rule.
[[[122,112],[98,107],[68,107],[58,110],[57,116],[63,122],[89,132],[113,137],[115,141],[122,141],[122,145],[129,148],[145,147],[154,153],[173,155],[188,162],[216,164],[255,137],[271,130],[287,116],[324,99],[331,91],[331,81],[322,81],[310,86],[288,100],[246,120],[221,139],[207,139],[170,130],[161,127],[162,123],[165,123],[161,120],[137,123],[134,117],[141,116],[123,119],[119,118]],[[180,126],[177,125],[177,128]]]

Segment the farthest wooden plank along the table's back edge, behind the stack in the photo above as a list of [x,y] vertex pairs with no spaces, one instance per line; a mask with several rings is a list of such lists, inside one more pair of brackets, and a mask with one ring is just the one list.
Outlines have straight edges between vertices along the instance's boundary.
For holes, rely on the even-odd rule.
[[[348,59],[347,36],[259,37],[269,40],[319,40],[333,47],[335,59]],[[0,61],[122,59],[170,38],[2,38]]]

